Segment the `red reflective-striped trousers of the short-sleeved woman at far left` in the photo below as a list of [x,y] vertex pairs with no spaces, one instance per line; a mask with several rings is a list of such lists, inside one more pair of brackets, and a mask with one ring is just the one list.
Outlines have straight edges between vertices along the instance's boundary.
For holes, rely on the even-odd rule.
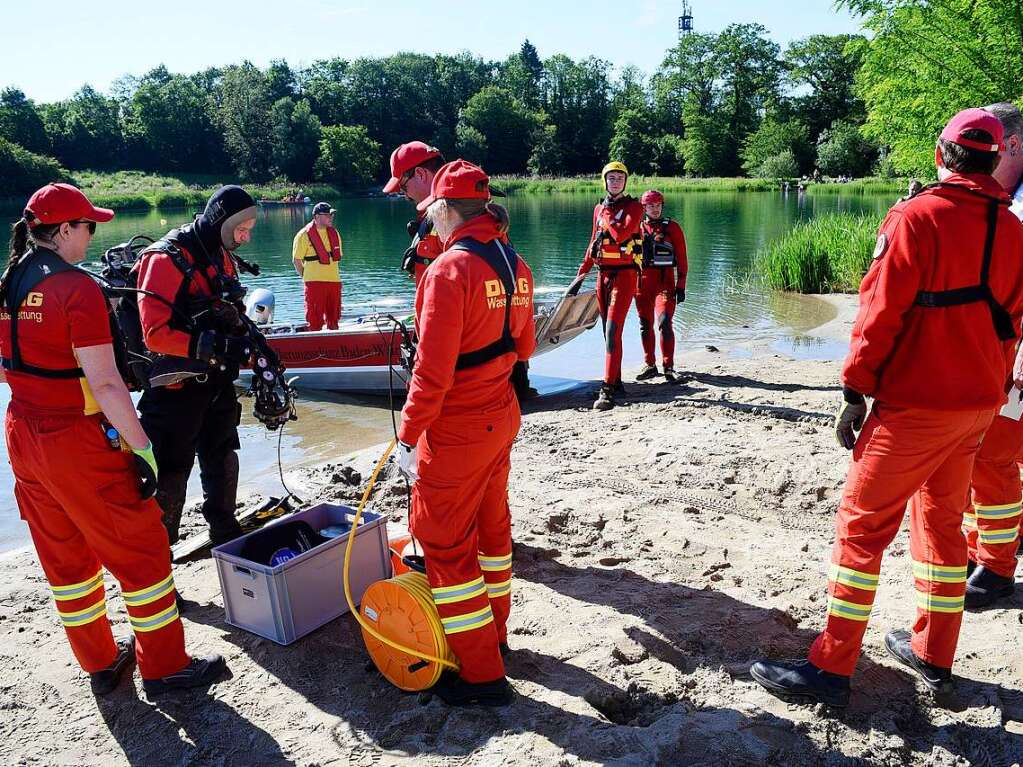
[[139,495],[132,454],[110,448],[97,416],[29,415],[12,404],[6,432],[21,518],[82,669],[100,671],[117,657],[106,568],[121,583],[142,678],[181,671],[189,659],[167,531],[157,502]]

